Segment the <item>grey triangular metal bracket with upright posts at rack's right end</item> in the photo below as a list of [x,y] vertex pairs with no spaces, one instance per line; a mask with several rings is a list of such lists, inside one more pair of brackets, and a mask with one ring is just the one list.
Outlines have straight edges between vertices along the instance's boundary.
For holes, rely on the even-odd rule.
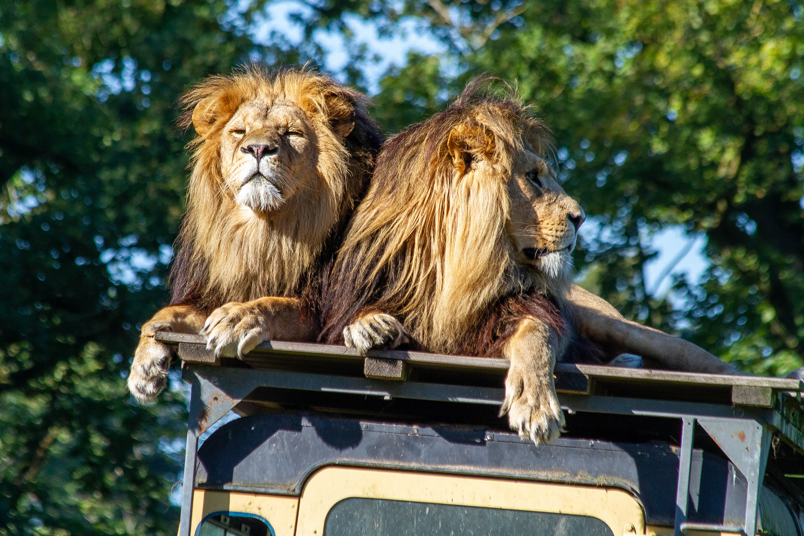
[[757,534],[759,493],[765,477],[765,466],[768,463],[771,433],[754,419],[684,417],[682,420],[679,485],[675,497],[675,536],[683,536],[687,530],[693,529],[724,530],[712,528],[715,526],[699,529],[698,524],[687,523],[692,439],[696,420],[748,481],[745,497],[745,524],[742,531],[749,536]]

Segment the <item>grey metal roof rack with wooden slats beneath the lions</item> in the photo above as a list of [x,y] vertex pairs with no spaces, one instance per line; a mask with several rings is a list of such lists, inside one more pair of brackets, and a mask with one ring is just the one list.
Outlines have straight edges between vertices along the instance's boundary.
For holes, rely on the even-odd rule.
[[[190,536],[199,436],[238,403],[248,400],[258,388],[364,395],[386,400],[499,405],[503,402],[504,390],[488,386],[502,385],[495,380],[503,378],[509,366],[505,359],[400,350],[372,350],[363,358],[344,346],[294,342],[264,342],[243,362],[224,360],[222,366],[221,360],[207,351],[206,339],[200,335],[159,332],[156,339],[178,346],[179,357],[183,360],[183,379],[191,385],[181,536]],[[421,381],[408,381],[411,372],[419,375]],[[804,412],[800,405],[804,383],[799,380],[564,363],[556,365],[554,374],[561,407],[571,414],[585,411],[681,420],[676,536],[686,534],[687,530],[756,534],[757,499],[771,436],[777,433],[799,454],[804,454]],[[443,381],[452,377],[457,381]],[[442,381],[433,381],[433,378]],[[467,381],[467,378],[482,378],[483,381]],[[613,387],[613,393],[598,388],[601,385]],[[671,392],[672,396],[662,396],[662,392]],[[741,527],[687,522],[696,422],[749,482],[745,522]]]

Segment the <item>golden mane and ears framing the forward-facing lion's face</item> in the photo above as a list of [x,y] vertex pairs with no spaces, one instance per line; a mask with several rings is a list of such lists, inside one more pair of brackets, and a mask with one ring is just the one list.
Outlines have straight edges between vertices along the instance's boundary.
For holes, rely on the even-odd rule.
[[[257,98],[301,108],[318,149],[318,186],[289,199],[281,215],[264,218],[249,217],[237,206],[223,188],[220,169],[224,126],[240,104]],[[210,77],[182,102],[182,123],[195,125],[199,136],[189,145],[193,171],[170,273],[171,305],[210,311],[265,296],[314,301],[323,264],[334,254],[379,150],[367,98],[309,68],[255,64],[232,76]],[[351,123],[351,133],[339,138],[338,127]]]

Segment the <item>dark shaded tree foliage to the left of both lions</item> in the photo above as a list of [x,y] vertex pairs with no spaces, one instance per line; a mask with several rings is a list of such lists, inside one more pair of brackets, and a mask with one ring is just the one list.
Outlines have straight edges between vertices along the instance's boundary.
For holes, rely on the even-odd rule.
[[228,9],[0,6],[0,534],[176,530],[183,396],[139,407],[125,374],[167,297],[178,96],[257,51]]

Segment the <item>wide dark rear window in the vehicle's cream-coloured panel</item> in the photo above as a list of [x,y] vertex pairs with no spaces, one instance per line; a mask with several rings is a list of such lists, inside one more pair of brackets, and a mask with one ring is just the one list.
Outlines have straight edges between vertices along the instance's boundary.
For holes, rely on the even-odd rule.
[[351,497],[326,516],[324,536],[613,536],[604,522],[566,513]]

